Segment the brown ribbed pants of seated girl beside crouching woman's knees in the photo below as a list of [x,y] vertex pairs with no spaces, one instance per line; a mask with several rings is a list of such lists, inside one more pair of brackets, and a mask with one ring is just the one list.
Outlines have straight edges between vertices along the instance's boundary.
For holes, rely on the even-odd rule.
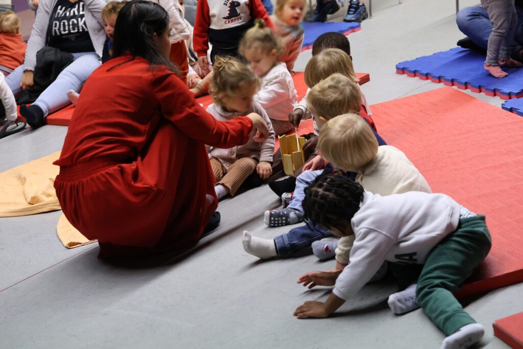
[[242,157],[226,169],[220,160],[211,157],[212,172],[217,182],[215,185],[223,185],[229,189],[231,196],[234,196],[245,179],[254,172],[257,164],[258,162],[250,157]]

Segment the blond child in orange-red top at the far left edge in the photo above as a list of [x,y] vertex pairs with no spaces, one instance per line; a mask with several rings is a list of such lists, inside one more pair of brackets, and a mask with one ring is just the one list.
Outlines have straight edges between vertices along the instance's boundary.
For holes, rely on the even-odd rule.
[[0,74],[8,75],[24,62],[27,44],[20,34],[20,17],[0,13]]

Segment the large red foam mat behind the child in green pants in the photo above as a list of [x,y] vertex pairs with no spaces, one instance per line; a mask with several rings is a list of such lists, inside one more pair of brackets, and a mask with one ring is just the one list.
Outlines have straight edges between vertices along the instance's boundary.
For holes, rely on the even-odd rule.
[[451,87],[371,109],[434,192],[486,215],[492,250],[456,296],[523,281],[523,119]]

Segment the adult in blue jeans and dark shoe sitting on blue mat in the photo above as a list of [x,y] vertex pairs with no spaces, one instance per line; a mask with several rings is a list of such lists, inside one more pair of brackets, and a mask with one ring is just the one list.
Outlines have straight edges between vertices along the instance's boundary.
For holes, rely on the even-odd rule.
[[[523,0],[515,0],[518,25],[514,31],[516,50],[511,58],[523,61]],[[464,7],[456,16],[459,30],[467,38],[458,41],[458,46],[467,49],[486,51],[488,37],[492,32],[492,22],[488,18],[486,10],[481,6]]]

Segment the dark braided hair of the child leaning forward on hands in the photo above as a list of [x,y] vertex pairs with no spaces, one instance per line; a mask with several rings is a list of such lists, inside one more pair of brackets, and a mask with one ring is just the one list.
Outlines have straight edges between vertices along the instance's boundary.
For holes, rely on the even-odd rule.
[[304,219],[326,229],[343,230],[340,223],[350,222],[362,200],[360,184],[341,174],[322,174],[305,188]]

